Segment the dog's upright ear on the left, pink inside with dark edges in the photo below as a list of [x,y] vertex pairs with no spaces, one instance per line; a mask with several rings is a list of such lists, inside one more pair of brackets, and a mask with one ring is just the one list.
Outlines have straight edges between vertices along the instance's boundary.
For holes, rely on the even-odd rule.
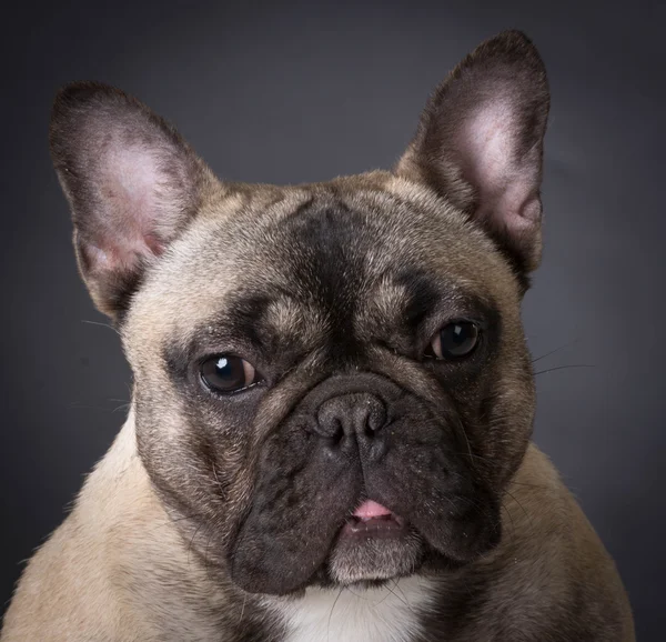
[[80,271],[97,307],[119,320],[145,268],[216,181],[170,124],[104,84],[79,82],[58,93],[50,143]]

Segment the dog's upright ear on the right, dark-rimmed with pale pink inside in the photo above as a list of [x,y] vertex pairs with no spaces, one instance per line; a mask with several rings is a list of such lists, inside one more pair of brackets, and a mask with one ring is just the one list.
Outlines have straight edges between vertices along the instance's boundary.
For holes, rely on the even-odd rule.
[[525,278],[541,260],[548,106],[536,48],[518,31],[503,32],[436,88],[396,168],[477,221]]

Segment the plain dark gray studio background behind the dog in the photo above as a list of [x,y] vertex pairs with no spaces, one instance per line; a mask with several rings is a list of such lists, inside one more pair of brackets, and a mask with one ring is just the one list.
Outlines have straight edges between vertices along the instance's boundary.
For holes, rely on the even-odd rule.
[[[666,624],[664,6],[91,2],[4,14],[0,604],[121,425],[130,372],[77,274],[50,165],[57,88],[97,79],[174,121],[222,177],[390,167],[427,93],[525,30],[548,68],[546,249],[524,318],[536,441],[617,560],[638,640]],[[537,3],[538,4],[538,3]],[[551,368],[588,364],[593,368]],[[662,626],[660,626],[662,625]]]

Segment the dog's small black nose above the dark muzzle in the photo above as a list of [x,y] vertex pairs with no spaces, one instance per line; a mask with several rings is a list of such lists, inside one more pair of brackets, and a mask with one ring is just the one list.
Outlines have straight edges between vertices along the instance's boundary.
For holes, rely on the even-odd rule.
[[370,392],[347,392],[324,401],[316,413],[316,432],[340,440],[343,437],[369,439],[386,423],[383,401]]

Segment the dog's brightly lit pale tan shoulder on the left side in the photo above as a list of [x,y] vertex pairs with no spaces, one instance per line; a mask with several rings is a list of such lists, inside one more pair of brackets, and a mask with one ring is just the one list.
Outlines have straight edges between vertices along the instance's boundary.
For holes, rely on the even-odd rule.
[[224,600],[151,489],[130,413],[72,513],[30,560],[0,639],[216,640],[219,622],[200,612]]

